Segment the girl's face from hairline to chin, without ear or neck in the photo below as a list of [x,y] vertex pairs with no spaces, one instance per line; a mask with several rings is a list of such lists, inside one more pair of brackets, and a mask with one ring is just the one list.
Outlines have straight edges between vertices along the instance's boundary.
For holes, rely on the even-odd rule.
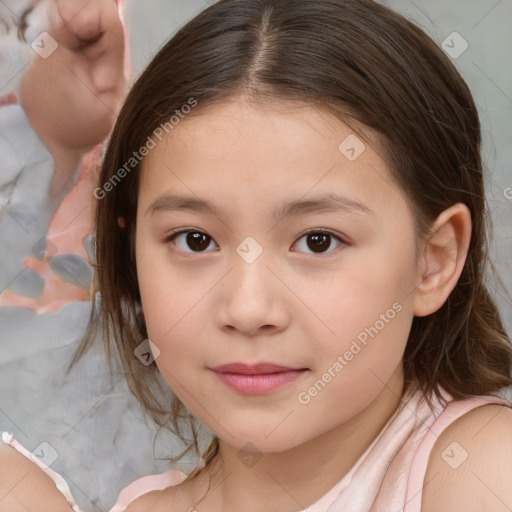
[[[287,105],[239,99],[181,120],[143,161],[137,211],[160,372],[219,438],[262,452],[401,386],[419,282],[413,219],[384,161],[336,118]],[[232,363],[288,371],[213,370]]]

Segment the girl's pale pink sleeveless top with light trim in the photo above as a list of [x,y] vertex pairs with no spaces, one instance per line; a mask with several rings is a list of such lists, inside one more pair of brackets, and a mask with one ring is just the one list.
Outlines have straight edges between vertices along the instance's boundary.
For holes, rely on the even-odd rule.
[[[477,396],[449,402],[433,398],[432,409],[422,393],[411,390],[379,435],[350,471],[307,512],[420,512],[423,480],[430,451],[441,432],[466,412],[486,404],[510,403],[497,396]],[[49,475],[75,512],[83,512],[62,476],[32,455],[12,434],[2,432],[2,441],[28,457]],[[202,463],[200,459],[200,463]],[[138,478],[119,494],[109,512],[123,512],[137,498],[151,491],[178,485],[187,478],[180,470]],[[306,512],[302,510],[300,512]]]

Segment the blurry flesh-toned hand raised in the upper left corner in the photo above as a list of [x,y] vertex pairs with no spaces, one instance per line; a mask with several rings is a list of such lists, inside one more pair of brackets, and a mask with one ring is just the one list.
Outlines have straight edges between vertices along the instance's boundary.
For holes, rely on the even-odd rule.
[[[58,48],[34,55],[20,103],[55,159],[57,193],[79,160],[109,134],[125,93],[124,33],[116,0],[43,0]],[[73,167],[73,169],[70,169]],[[67,169],[67,171],[65,170]],[[68,176],[69,177],[69,174]],[[55,181],[55,180],[54,180]]]

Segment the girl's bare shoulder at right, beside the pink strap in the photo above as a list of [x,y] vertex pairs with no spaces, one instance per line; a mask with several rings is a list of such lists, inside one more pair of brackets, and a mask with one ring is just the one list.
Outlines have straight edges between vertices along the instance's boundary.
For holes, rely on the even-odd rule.
[[512,409],[473,409],[437,439],[425,474],[422,512],[512,510]]

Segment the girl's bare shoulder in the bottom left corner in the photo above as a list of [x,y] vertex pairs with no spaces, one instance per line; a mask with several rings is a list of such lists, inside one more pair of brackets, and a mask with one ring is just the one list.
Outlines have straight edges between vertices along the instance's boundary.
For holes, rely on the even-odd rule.
[[34,462],[0,441],[0,512],[69,512],[55,482]]

